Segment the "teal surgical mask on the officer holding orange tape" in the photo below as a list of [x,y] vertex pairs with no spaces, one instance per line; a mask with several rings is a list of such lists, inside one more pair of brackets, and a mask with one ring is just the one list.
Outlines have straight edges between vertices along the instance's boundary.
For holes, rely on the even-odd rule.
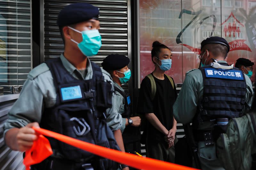
[[101,47],[101,36],[98,30],[87,30],[87,31],[78,31],[70,26],[68,28],[81,33],[83,40],[78,43],[75,40],[71,39],[71,41],[75,42],[80,49],[80,51],[86,56],[96,55]]

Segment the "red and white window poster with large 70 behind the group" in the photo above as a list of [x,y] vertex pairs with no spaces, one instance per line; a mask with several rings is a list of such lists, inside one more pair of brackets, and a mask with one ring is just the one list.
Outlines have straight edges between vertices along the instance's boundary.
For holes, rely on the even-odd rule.
[[[166,74],[182,84],[186,72],[198,68],[201,41],[225,38],[228,64],[240,57],[255,62],[256,0],[140,0],[140,81],[154,70],[153,41],[172,49]],[[255,67],[255,65],[254,65]],[[255,81],[253,74],[251,80]]]

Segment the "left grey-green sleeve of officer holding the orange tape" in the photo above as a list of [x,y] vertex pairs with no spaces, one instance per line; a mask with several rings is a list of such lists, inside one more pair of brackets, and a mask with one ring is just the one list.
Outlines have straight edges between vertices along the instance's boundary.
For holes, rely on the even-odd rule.
[[21,128],[31,122],[40,122],[43,94],[34,79],[27,79],[23,85],[20,97],[8,113],[4,123],[4,134],[11,128]]

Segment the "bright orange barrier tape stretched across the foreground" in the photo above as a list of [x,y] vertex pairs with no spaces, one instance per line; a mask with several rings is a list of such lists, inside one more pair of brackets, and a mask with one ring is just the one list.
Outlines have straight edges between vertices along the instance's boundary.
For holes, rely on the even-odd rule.
[[[52,149],[50,149],[51,146],[49,141],[42,135],[55,138],[57,140],[60,140],[66,144],[72,145],[79,149],[83,149],[95,155],[99,155],[101,157],[105,157],[107,159],[111,159],[121,164],[129,165],[137,169],[144,169],[144,170],[156,170],[156,169],[193,170],[194,169],[194,168],[181,166],[181,165],[177,165],[169,162],[164,162],[156,159],[139,157],[131,153],[120,152],[114,149],[105,148],[99,145],[74,139],[72,137],[61,135],[59,133],[55,133],[46,129],[35,128],[35,127],[33,127],[33,129],[39,134],[39,138],[37,139],[37,141],[34,142],[31,149],[26,152],[26,156],[23,161],[24,165],[26,166],[26,170],[29,170],[30,165],[39,163],[42,161],[42,159],[44,160],[52,154]],[[31,155],[32,152],[33,154]]]

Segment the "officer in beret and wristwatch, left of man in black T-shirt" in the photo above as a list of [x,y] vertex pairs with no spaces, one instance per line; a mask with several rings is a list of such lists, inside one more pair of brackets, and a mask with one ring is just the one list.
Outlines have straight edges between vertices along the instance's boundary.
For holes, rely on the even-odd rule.
[[[131,70],[128,68],[130,59],[124,55],[111,54],[108,55],[101,63],[104,70],[108,71],[111,75],[114,88],[115,100],[118,113],[123,117],[121,131],[125,152],[139,152],[140,153],[140,126],[141,120],[139,116],[133,116],[131,113],[131,99],[129,93],[124,92],[121,87],[122,84],[128,83],[131,77]],[[131,169],[131,168],[130,168]]]

